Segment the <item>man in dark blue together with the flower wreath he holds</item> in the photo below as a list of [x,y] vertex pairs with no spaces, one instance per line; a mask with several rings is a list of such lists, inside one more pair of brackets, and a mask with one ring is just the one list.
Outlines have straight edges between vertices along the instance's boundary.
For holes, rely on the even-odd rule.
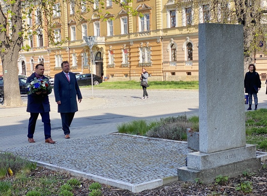
[[39,114],[41,114],[42,122],[44,123],[45,143],[54,144],[55,141],[51,138],[50,124],[50,103],[48,95],[52,92],[48,78],[44,76],[44,65],[37,64],[35,73],[27,78],[27,94],[28,104],[27,112],[31,113],[28,125],[28,141],[35,142],[33,134]]

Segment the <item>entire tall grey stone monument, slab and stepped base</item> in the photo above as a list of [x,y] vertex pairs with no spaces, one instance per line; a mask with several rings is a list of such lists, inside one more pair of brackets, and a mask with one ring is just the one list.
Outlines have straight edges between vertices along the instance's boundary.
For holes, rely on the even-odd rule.
[[200,151],[187,154],[179,180],[204,183],[260,168],[246,144],[243,26],[199,25]]

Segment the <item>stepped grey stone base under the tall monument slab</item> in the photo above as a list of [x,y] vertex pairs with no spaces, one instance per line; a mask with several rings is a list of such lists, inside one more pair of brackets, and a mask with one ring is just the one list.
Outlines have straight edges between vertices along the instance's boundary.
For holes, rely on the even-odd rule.
[[244,171],[261,168],[261,158],[256,157],[256,146],[219,151],[214,153],[192,152],[187,155],[187,166],[177,170],[180,181],[211,183],[217,175],[235,177]]

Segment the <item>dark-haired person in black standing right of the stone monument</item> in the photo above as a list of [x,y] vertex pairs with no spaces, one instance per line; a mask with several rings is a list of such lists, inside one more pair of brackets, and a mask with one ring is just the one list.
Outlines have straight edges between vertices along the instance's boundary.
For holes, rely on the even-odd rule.
[[258,106],[257,93],[261,89],[261,80],[260,80],[260,75],[255,71],[256,71],[255,65],[250,64],[249,72],[246,73],[244,79],[245,92],[249,94],[249,108],[247,110],[251,110],[252,95],[254,97],[255,110],[257,110]]

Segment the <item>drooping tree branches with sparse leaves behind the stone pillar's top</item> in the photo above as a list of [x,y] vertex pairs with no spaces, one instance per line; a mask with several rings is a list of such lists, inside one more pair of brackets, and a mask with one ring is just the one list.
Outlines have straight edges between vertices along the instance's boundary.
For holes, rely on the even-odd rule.
[[[192,8],[195,24],[208,22],[243,25],[244,71],[253,63],[253,55],[257,51],[266,52],[266,47],[259,47],[259,41],[266,45],[267,7],[264,0],[175,0],[175,3],[178,8]],[[208,10],[203,10],[205,5]],[[204,21],[200,21],[200,14]]]

